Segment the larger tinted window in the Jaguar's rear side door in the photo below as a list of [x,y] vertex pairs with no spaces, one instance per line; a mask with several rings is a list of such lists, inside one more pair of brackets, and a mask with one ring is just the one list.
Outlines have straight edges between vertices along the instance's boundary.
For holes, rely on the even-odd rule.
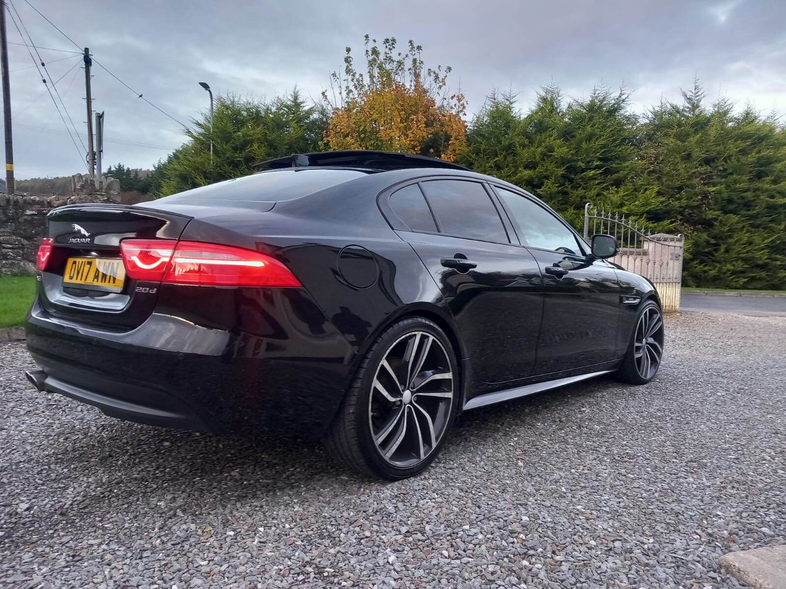
[[474,240],[509,243],[505,227],[483,185],[461,180],[423,183],[439,231]]

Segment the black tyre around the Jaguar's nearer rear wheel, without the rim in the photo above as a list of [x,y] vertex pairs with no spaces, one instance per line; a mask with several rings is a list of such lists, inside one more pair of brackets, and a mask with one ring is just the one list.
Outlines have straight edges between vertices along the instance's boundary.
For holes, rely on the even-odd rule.
[[[390,348],[390,346],[397,339],[412,331],[427,331],[429,334],[439,339],[439,342],[445,348],[448,360],[450,361],[450,370],[454,375],[454,394],[453,400],[450,404],[450,415],[448,416],[447,424],[445,426],[445,432],[442,439],[436,445],[434,451],[428,456],[428,458],[424,459],[422,463],[411,466],[410,468],[399,468],[398,466],[388,463],[387,460],[385,460],[384,457],[380,455],[379,450],[376,448],[376,444],[374,444],[373,436],[371,434],[371,426],[369,424],[369,402],[371,399],[371,389],[374,376],[376,375],[376,369],[384,359],[387,349]],[[392,327],[389,327],[387,331],[384,331],[384,333],[380,336],[380,339],[375,342],[373,349],[371,349],[369,353],[371,354],[371,357],[369,358],[370,361],[368,367],[365,370],[365,374],[361,375],[361,394],[358,398],[357,404],[358,415],[356,418],[356,423],[358,424],[358,441],[360,442],[361,452],[366,461],[369,463],[369,466],[371,466],[372,469],[381,477],[394,480],[411,477],[413,474],[417,474],[421,472],[421,470],[424,470],[426,466],[434,461],[443,444],[445,443],[448,435],[450,434],[451,428],[453,427],[454,419],[456,418],[457,413],[456,408],[459,397],[461,397],[461,382],[458,378],[459,371],[456,354],[454,352],[453,346],[450,345],[450,339],[447,338],[445,333],[432,321],[420,317],[405,319],[400,321],[398,324],[394,324]]]

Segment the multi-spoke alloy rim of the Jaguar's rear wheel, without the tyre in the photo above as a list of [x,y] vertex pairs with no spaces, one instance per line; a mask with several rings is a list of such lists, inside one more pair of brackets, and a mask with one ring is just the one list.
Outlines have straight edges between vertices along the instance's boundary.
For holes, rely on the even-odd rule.
[[369,401],[380,455],[402,468],[427,459],[445,434],[453,397],[453,370],[439,339],[426,331],[397,339],[376,368]]

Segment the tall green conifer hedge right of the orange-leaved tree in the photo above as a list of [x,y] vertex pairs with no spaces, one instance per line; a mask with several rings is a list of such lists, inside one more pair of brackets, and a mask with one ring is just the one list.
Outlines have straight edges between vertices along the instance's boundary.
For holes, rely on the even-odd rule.
[[707,105],[695,84],[644,115],[598,88],[546,86],[523,112],[492,95],[462,163],[534,192],[582,228],[588,201],[685,234],[685,286],[786,289],[786,129],[775,115]]

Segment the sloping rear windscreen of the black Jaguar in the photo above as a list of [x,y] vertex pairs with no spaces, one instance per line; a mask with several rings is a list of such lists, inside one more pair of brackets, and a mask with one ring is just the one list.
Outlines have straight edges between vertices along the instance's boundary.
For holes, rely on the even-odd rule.
[[189,203],[200,200],[278,202],[306,196],[366,174],[369,172],[340,169],[270,170],[178,192],[158,199],[156,203]]

